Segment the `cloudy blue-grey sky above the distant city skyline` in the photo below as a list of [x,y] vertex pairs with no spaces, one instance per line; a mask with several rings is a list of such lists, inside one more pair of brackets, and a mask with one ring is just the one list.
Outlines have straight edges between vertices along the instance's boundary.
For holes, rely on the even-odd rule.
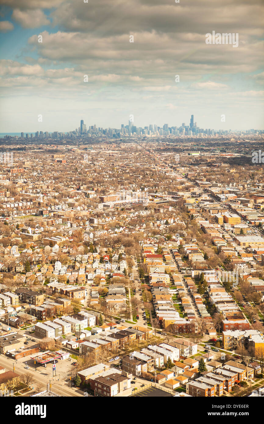
[[262,0],[0,0],[0,133],[263,129],[263,18]]

